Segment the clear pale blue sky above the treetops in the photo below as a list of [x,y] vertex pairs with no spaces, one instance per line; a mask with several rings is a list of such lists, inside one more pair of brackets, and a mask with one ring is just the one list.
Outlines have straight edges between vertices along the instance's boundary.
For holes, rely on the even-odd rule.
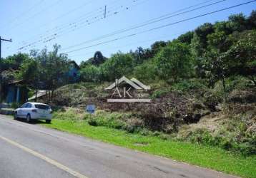
[[[94,56],[95,51],[109,57],[118,51],[135,51],[139,46],[149,48],[155,41],[172,40],[202,23],[227,20],[231,14],[248,16],[256,10],[255,1],[157,28],[252,0],[226,0],[213,4],[217,1],[220,0],[1,0],[0,36],[12,39],[11,43],[2,41],[1,54],[6,57],[29,53],[31,49],[41,51],[45,47],[51,51],[57,43],[61,46],[60,53],[67,53],[79,64]],[[189,6],[195,9],[207,4],[212,5],[180,14]],[[167,14],[172,17],[147,24]],[[141,24],[147,25],[135,28]],[[149,31],[152,28],[157,29]]]

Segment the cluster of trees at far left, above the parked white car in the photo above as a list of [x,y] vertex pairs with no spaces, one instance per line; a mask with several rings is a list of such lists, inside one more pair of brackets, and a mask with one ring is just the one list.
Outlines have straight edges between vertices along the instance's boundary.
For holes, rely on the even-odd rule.
[[[52,100],[54,90],[67,84],[71,67],[67,55],[58,53],[60,46],[54,45],[53,51],[46,48],[31,53],[19,53],[1,60],[1,88],[14,80],[24,80],[32,90],[47,90]],[[3,93],[1,93],[3,95]]]

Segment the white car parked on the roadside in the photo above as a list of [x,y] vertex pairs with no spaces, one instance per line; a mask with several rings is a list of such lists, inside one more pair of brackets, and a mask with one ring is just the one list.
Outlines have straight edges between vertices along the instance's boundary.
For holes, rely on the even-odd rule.
[[31,120],[45,120],[51,122],[51,107],[43,103],[25,103],[21,108],[14,110],[14,119],[24,118],[27,122]]

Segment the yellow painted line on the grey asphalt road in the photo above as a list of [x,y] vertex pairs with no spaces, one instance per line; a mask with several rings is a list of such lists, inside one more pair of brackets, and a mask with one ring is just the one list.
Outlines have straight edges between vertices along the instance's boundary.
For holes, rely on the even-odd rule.
[[29,149],[27,147],[24,147],[23,145],[20,145],[17,142],[9,140],[6,137],[2,137],[0,135],[0,139],[8,142],[11,145],[19,147],[21,150],[24,150],[25,152],[29,152],[31,155],[34,155],[35,157],[39,157],[40,159],[43,159],[44,161],[49,162],[50,164],[53,164],[54,166],[58,167],[59,169],[62,169],[64,171],[66,171],[66,172],[69,172],[69,174],[72,174],[74,177],[89,178],[89,177],[86,177],[83,174],[80,174],[79,172],[74,171],[73,169],[70,169],[69,167],[64,166],[63,164],[60,164],[59,162],[54,161],[53,159],[50,159],[49,157],[41,155],[39,152],[35,152],[34,150],[31,150],[31,149]]

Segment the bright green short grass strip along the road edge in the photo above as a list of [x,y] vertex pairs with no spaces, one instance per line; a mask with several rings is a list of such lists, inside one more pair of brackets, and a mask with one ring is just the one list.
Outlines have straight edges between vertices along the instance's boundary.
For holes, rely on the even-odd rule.
[[244,157],[232,154],[219,147],[162,140],[159,137],[129,134],[125,131],[108,127],[93,127],[88,125],[86,121],[52,120],[50,125],[43,125],[241,177],[256,177],[256,156]]

